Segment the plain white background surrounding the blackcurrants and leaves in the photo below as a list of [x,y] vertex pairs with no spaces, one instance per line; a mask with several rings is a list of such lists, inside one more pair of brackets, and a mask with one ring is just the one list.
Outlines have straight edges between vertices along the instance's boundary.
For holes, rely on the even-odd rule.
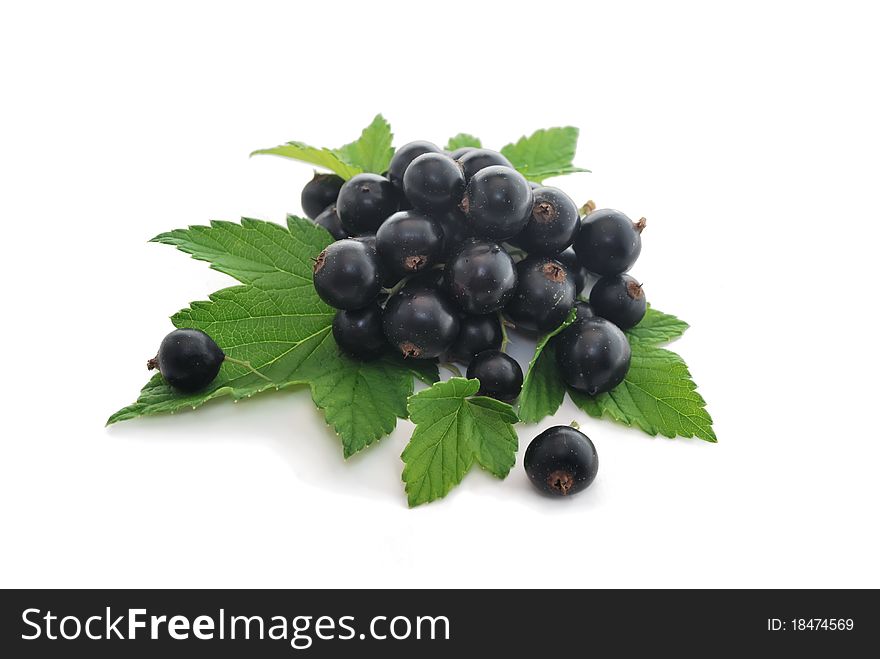
[[[880,586],[871,3],[31,2],[0,10],[2,586]],[[104,428],[230,280],[153,235],[299,211],[377,112],[398,145],[581,128],[558,180],[646,216],[634,274],[720,442],[570,403],[595,484],[520,461],[408,510],[412,426],[344,462],[305,390]],[[521,453],[520,453],[521,456]]]

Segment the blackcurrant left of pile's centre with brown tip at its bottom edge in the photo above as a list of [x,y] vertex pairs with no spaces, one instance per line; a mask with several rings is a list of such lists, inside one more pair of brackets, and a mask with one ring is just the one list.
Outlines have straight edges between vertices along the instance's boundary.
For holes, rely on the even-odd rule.
[[376,232],[376,249],[398,278],[431,267],[443,253],[443,229],[418,211],[398,211]]

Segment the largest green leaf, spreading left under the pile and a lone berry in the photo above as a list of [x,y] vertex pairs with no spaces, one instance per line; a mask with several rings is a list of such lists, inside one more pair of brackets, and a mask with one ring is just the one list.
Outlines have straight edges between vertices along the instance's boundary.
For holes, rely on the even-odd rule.
[[[175,327],[211,335],[229,357],[250,363],[264,377],[226,361],[207,389],[183,395],[156,375],[137,402],[108,423],[195,408],[221,396],[238,400],[308,383],[348,457],[388,434],[398,417],[406,417],[417,367],[390,357],[355,362],[333,340],[335,311],[312,285],[313,259],[332,242],[324,229],[293,216],[287,227],[245,218],[240,224],[212,222],[171,231],[154,240],[208,261],[242,282],[208,301],[193,302],[171,320]],[[418,367],[418,372],[426,381],[438,378],[436,365]]]

